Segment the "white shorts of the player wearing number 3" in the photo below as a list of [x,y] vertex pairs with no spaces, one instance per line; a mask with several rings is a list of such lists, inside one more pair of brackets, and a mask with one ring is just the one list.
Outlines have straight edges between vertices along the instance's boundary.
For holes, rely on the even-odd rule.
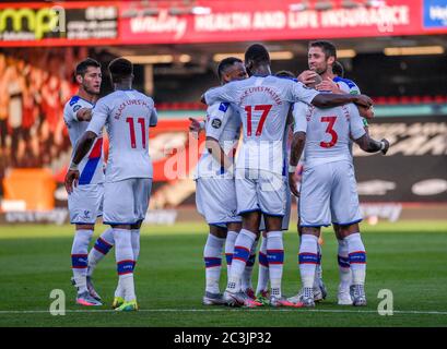
[[354,166],[349,161],[305,166],[299,196],[302,227],[348,226],[362,220]]

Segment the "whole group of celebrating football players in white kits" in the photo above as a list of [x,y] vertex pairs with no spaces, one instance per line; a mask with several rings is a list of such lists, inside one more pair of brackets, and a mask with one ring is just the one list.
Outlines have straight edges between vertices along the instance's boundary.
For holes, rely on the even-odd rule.
[[[289,72],[271,73],[269,52],[262,45],[250,46],[245,62],[232,57],[224,59],[217,68],[222,86],[202,96],[208,105],[207,120],[191,120],[190,130],[204,129],[207,137],[196,178],[197,207],[210,227],[203,252],[203,304],[314,306],[315,301],[326,298],[318,238],[320,228],[331,224],[339,241],[338,302],[366,304],[366,253],[358,228],[362,218],[352,142],[365,152],[383,154],[389,143],[369,137],[364,118],[373,116],[372,100],[342,77],[333,45],[311,43],[308,60],[309,70],[295,79]],[[99,261],[115,246],[118,285],[113,308],[134,311],[138,303],[133,270],[153,177],[149,128],[156,125],[157,115],[152,98],[132,89],[130,61],[117,58],[108,65],[108,72],[114,92],[98,99],[99,63],[93,59],[79,63],[75,71],[79,92],[64,107],[63,118],[73,145],[64,181],[70,221],[75,225],[72,284],[78,290],[78,304],[102,305],[92,276]],[[109,139],[106,166],[103,128]],[[287,154],[290,130],[293,141]],[[304,167],[299,192],[298,160]],[[295,297],[285,298],[281,291],[282,233],[289,229],[291,192],[299,196],[298,258],[303,287]],[[99,216],[110,228],[89,252]],[[251,270],[260,234],[255,292]],[[221,293],[223,250],[227,286]]]

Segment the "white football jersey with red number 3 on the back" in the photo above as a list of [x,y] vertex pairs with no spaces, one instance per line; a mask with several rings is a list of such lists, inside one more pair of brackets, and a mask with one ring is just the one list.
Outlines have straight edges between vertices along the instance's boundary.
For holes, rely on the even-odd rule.
[[360,139],[366,132],[354,104],[319,109],[297,103],[293,109],[294,133],[306,133],[305,166],[332,161],[352,161],[351,135]]

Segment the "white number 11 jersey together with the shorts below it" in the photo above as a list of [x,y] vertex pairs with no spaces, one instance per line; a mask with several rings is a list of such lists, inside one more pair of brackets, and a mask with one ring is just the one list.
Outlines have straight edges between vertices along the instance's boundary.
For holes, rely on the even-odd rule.
[[153,178],[149,127],[156,122],[152,98],[134,89],[118,89],[96,103],[87,131],[99,134],[105,125],[109,137],[104,224],[133,225],[144,219]]

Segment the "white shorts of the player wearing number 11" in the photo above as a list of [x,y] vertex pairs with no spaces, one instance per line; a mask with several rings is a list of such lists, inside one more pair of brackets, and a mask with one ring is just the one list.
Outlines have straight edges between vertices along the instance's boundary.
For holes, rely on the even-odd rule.
[[134,225],[145,218],[152,178],[128,178],[104,184],[105,225]]

